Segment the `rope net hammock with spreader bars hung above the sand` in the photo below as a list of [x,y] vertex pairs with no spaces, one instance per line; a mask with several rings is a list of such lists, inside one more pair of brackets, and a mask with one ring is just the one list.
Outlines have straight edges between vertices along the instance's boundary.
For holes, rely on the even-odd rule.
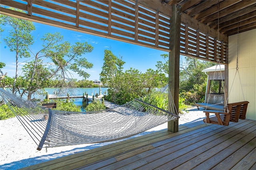
[[103,111],[68,112],[46,109],[4,89],[0,89],[0,97],[36,142],[38,150],[127,138],[179,118],[138,99]]

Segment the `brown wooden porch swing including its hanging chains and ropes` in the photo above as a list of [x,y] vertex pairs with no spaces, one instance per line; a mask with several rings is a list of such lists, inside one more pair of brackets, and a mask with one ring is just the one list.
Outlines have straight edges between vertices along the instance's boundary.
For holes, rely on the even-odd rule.
[[[218,19],[218,27],[219,27],[219,19]],[[238,38],[237,38],[236,73],[234,76],[234,80],[236,78],[236,75],[238,74],[239,81],[240,81],[240,87],[241,87],[243,98],[244,98],[241,79],[240,79],[240,75],[239,75],[239,71],[238,71],[239,18],[238,18],[237,35],[238,35]],[[232,82],[230,90],[233,87],[234,80]],[[223,81],[222,81],[222,83],[223,83]],[[225,90],[225,88],[224,88],[224,90]],[[228,98],[226,99],[226,96],[225,96],[225,107],[223,108],[224,111],[205,110],[204,113],[206,115],[206,119],[203,120],[204,123],[212,123],[212,124],[217,124],[217,125],[228,126],[229,122],[238,122],[239,119],[246,118],[246,111],[247,111],[247,107],[248,107],[248,103],[249,103],[248,101],[241,101],[241,102],[228,103],[228,104],[227,104],[227,102],[228,102]],[[214,113],[215,116],[210,117],[210,113]]]

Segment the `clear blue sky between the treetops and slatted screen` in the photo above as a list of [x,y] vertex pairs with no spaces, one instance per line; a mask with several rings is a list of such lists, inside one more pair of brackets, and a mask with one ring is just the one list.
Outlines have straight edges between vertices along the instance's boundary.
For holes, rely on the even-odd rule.
[[[71,44],[74,44],[75,42],[88,42],[90,45],[92,45],[94,47],[92,53],[87,53],[82,56],[86,57],[86,59],[94,65],[92,69],[86,70],[87,73],[90,74],[90,77],[88,78],[89,80],[98,80],[100,78],[99,74],[102,70],[104,62],[103,59],[105,49],[111,48],[111,51],[114,55],[122,56],[123,61],[126,62],[124,64],[124,70],[130,69],[130,67],[132,67],[143,73],[149,68],[156,69],[156,62],[163,61],[160,55],[168,54],[166,51],[160,51],[139,45],[119,42],[116,40],[110,40],[108,38],[101,38],[98,36],[92,36],[89,34],[47,26],[35,22],[34,26],[36,28],[36,30],[32,32],[34,39],[36,39],[36,42],[34,45],[32,45],[34,53],[42,49],[42,42],[40,41],[40,38],[42,38],[42,36],[48,32],[60,32],[60,34],[64,36],[64,40],[70,42]],[[9,28],[6,26],[2,26],[2,28],[6,29],[5,32],[2,33],[0,43],[0,61],[6,63],[6,67],[2,68],[2,72],[8,72],[7,75],[9,77],[14,77],[16,68],[15,52],[10,52],[9,47],[6,46],[5,42],[2,40],[4,37],[8,36],[7,30]],[[26,62],[26,60],[26,58],[19,58],[19,75],[22,74],[21,66]],[[78,77],[76,74],[73,75],[73,78],[82,79],[82,77]]]

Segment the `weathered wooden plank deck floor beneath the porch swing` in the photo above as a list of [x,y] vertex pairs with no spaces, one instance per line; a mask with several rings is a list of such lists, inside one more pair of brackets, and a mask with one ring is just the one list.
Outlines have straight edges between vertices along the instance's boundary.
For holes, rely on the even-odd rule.
[[79,152],[26,169],[256,169],[256,121],[229,126],[202,120]]

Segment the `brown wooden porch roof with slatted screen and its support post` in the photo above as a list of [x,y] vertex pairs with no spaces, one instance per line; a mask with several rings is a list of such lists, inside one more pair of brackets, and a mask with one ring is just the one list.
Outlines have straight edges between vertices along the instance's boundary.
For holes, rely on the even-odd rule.
[[[239,33],[256,28],[255,0],[1,0],[0,4],[0,14],[168,51],[169,87],[176,108],[180,55],[220,62],[228,71],[228,36],[238,33],[238,25]],[[168,130],[177,132],[178,121],[170,122]]]

